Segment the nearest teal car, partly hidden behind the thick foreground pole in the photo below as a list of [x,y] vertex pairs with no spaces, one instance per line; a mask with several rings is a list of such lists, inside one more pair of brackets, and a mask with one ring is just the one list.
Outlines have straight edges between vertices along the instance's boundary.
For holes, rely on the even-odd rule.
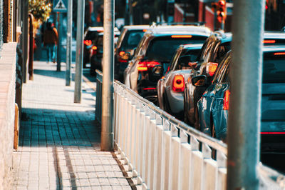
[[[207,90],[198,101],[201,130],[226,140],[230,98],[231,53],[224,57]],[[285,47],[264,46],[261,101],[261,151],[284,150],[285,146]],[[209,76],[196,76],[195,86],[209,83]]]

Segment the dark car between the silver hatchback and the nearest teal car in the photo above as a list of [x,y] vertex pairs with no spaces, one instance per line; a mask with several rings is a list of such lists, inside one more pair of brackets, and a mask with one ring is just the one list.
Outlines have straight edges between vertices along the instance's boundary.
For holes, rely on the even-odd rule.
[[215,32],[204,42],[196,62],[192,64],[190,77],[185,82],[184,121],[196,129],[199,129],[197,102],[207,89],[207,85],[193,86],[191,79],[198,75],[209,76],[209,80],[212,79],[222,57],[229,51],[231,41],[232,34]]

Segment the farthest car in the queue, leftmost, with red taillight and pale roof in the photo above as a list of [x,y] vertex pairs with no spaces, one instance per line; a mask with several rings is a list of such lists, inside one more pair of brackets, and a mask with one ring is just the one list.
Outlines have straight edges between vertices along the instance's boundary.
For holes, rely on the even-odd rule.
[[86,68],[86,64],[90,62],[90,51],[93,47],[93,41],[102,31],[104,31],[104,28],[101,26],[88,27],[85,31],[83,39],[83,68]]

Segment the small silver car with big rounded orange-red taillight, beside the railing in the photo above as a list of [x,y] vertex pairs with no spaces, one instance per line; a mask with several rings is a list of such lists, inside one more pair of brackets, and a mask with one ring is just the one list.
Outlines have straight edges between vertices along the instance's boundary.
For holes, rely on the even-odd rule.
[[157,82],[157,99],[160,109],[167,111],[178,119],[183,119],[185,79],[188,79],[191,67],[203,44],[180,45],[175,51],[170,69]]

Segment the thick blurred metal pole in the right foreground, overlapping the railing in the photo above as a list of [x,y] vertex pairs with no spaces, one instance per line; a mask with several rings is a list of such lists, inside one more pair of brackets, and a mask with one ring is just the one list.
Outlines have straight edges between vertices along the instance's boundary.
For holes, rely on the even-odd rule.
[[234,1],[227,189],[259,189],[264,5],[265,0]]

